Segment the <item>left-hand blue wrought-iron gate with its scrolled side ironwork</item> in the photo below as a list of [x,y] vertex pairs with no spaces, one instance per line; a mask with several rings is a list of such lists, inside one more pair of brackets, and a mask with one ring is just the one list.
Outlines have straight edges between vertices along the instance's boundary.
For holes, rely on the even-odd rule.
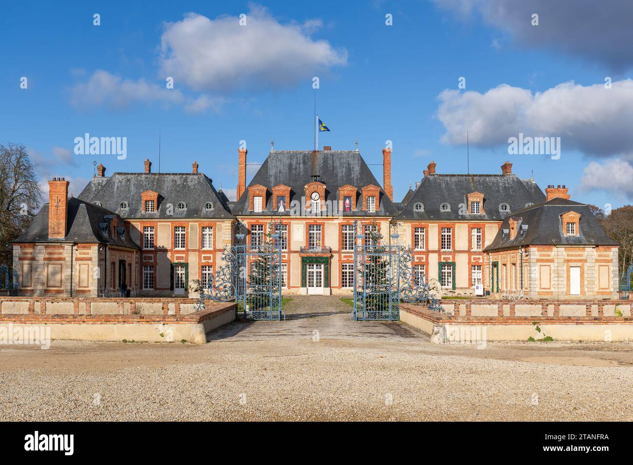
[[206,307],[206,300],[235,301],[244,318],[285,319],[282,309],[281,223],[269,223],[268,233],[251,232],[246,243],[246,226],[237,223],[236,245],[222,253],[223,265],[216,268],[213,280],[202,283],[196,309]]

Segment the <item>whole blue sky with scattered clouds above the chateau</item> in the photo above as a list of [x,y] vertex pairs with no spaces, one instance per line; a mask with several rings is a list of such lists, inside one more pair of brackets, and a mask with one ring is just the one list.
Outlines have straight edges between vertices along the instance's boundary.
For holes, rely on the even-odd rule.
[[[75,195],[93,160],[106,175],[142,171],[146,158],[158,170],[160,128],[161,171],[190,171],[197,160],[230,197],[240,140],[249,163],[265,159],[271,139],[280,150],[313,147],[313,76],[331,130],[319,146],[358,140],[367,163],[379,164],[391,140],[396,199],[431,160],[438,173],[466,172],[464,128],[473,173],[500,173],[510,159],[520,177],[533,170],[543,189],[566,184],[578,201],[615,208],[633,195],[633,13],[623,2],[147,5],[3,7],[0,141],[27,146],[44,180],[70,178]],[[127,137],[127,158],[74,154],[86,132]],[[560,159],[509,155],[518,132],[561,137]],[[382,167],[371,168],[382,182]]]

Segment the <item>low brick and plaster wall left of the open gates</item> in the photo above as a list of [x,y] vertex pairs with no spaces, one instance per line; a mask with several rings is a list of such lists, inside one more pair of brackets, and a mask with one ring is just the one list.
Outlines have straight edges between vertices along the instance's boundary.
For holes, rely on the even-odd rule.
[[194,299],[0,298],[0,330],[47,325],[53,339],[204,344],[206,333],[235,320],[234,302],[207,302],[195,311]]

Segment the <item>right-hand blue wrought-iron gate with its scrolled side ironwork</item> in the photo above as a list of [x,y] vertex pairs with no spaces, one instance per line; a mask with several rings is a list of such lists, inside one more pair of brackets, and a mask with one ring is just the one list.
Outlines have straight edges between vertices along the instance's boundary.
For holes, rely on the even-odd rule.
[[401,302],[423,302],[442,311],[425,276],[413,274],[411,249],[397,244],[397,232],[390,235],[394,245],[384,243],[377,227],[366,228],[367,234],[356,231],[354,221],[353,320],[397,321]]

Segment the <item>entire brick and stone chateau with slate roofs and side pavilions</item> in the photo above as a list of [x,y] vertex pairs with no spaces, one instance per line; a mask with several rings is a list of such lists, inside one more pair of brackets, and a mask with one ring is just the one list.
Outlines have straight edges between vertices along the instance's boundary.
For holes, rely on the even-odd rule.
[[[565,187],[543,192],[512,173],[437,173],[432,161],[400,202],[391,185],[391,150],[382,151],[382,185],[358,150],[271,149],[246,183],[246,149],[237,156],[236,201],[192,164],[191,173],[105,175],[99,164],[77,199],[49,182],[49,203],[13,244],[23,295],[191,295],[209,282],[235,244],[235,223],[258,246],[277,233],[284,294],[349,294],[356,233],[380,233],[411,248],[413,279],[437,280],[444,294],[532,298],[612,298],[618,244]],[[513,213],[514,212],[514,213]],[[279,224],[280,231],[274,231]],[[391,233],[398,232],[398,239]]]

